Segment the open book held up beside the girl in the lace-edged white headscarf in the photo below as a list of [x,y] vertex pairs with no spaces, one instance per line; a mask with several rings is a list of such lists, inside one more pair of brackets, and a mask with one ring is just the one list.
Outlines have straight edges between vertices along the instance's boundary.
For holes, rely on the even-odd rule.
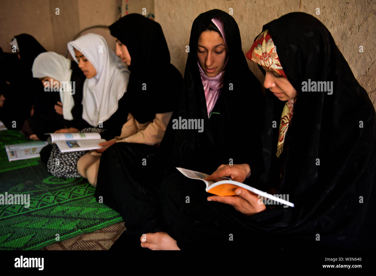
[[51,135],[51,141],[61,152],[88,151],[90,149],[103,148],[99,143],[106,142],[100,138],[99,133],[47,133]]

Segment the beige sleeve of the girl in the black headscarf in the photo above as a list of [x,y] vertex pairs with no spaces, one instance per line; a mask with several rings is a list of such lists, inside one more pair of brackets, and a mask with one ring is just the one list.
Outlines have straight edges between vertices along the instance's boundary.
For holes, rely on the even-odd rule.
[[172,111],[167,113],[157,113],[152,122],[147,122],[145,124],[139,124],[139,122],[133,118],[138,126],[137,133],[125,139],[118,140],[117,142],[142,143],[146,145],[158,144],[162,141],[171,116]]

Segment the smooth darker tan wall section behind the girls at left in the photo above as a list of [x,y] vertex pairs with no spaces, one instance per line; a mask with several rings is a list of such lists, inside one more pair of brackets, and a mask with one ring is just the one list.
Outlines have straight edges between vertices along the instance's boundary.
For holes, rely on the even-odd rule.
[[[138,3],[143,1],[129,0],[129,12],[141,13]],[[114,23],[120,17],[118,7],[123,7],[122,2],[125,0],[2,0],[0,46],[4,52],[11,52],[9,42],[14,35],[26,33],[35,37],[46,50],[65,55],[68,41],[80,30]],[[147,9],[150,7],[153,11],[154,2],[149,2]],[[56,15],[56,8],[59,8],[59,15]],[[115,49],[108,29],[94,28],[82,35],[89,32],[103,35]]]

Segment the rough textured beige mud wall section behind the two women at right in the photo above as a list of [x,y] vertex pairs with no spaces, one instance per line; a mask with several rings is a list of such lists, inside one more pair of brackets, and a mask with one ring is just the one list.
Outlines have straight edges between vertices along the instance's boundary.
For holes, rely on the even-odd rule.
[[[171,63],[184,72],[193,20],[202,12],[221,9],[238,23],[243,52],[246,53],[262,26],[289,12],[299,11],[298,0],[154,0],[155,20],[162,26],[171,53]],[[302,0],[300,11],[317,17],[332,33],[359,83],[376,108],[376,2],[374,0]],[[320,8],[320,15],[315,9]],[[364,52],[359,53],[359,45]],[[254,63],[252,72],[263,82]]]

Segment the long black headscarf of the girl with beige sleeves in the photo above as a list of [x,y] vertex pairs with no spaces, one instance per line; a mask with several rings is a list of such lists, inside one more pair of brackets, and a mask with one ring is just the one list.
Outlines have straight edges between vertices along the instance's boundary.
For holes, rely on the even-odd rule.
[[182,77],[170,63],[161,25],[143,15],[129,14],[109,29],[127,47],[131,58],[125,95],[129,112],[143,124],[152,121],[156,113],[173,111]]

